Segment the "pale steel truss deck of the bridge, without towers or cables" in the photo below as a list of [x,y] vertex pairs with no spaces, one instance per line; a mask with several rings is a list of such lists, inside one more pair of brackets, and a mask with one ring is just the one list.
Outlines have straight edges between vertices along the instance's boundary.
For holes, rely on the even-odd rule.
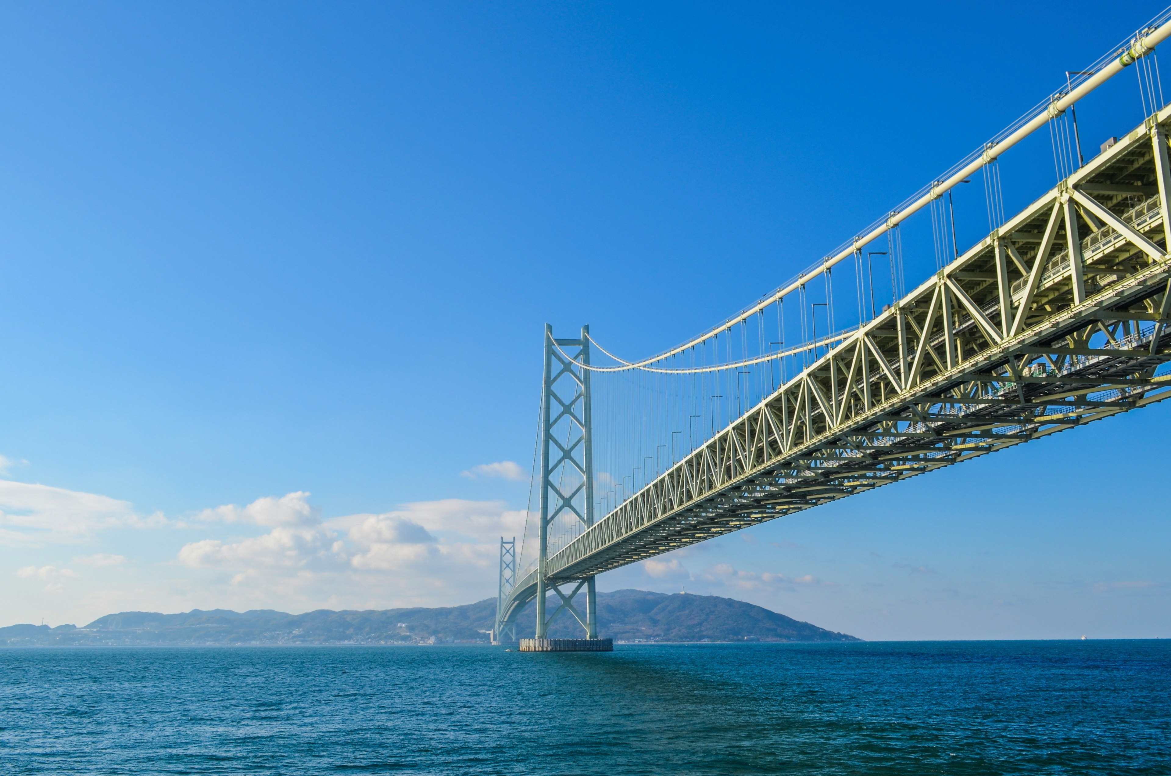
[[1171,108],[1151,116],[842,340],[549,557],[547,578],[591,577],[1171,395],[1156,375],[1171,360],[1169,123]]

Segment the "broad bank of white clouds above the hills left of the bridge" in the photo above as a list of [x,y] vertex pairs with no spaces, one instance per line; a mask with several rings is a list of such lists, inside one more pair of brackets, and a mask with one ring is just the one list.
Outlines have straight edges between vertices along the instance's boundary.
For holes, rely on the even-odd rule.
[[[101,547],[39,558],[36,565],[29,565],[32,557],[22,559],[25,569],[9,579],[43,588],[47,600],[70,598],[70,606],[91,619],[143,607],[310,611],[453,605],[495,594],[500,537],[521,539],[526,512],[500,501],[453,498],[326,520],[307,492],[295,491],[203,510],[194,517],[189,522],[205,531],[201,540],[185,542],[170,532],[160,537],[179,539],[169,552],[170,564],[133,563],[138,556],[122,546],[108,547],[103,539]],[[104,529],[157,524],[174,523],[162,516],[142,518],[130,503],[105,496],[0,481],[0,537],[21,546],[48,539],[83,542]],[[11,566],[7,573],[18,569]],[[84,574],[84,585],[74,569]],[[101,573],[90,580],[89,570]],[[13,607],[32,606],[32,597],[26,599]]]

